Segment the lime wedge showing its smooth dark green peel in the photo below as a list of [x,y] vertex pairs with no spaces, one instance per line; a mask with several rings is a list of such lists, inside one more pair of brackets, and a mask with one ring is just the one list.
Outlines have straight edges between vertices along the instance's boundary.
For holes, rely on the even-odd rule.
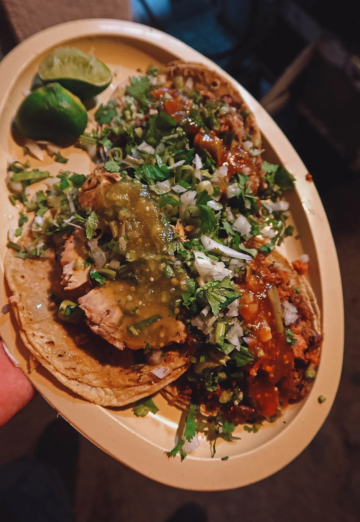
[[87,124],[88,113],[80,99],[60,84],[32,91],[15,116],[15,125],[25,137],[54,143],[78,138]]

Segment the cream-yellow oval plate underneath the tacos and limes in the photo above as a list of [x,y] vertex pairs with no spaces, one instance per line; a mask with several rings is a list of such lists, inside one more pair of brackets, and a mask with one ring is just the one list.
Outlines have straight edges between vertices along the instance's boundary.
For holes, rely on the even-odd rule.
[[[289,141],[262,106],[217,65],[168,34],[150,27],[120,20],[79,20],[46,29],[22,42],[0,64],[0,174],[5,178],[7,160],[22,158],[23,151],[10,134],[11,118],[23,99],[23,90],[31,80],[45,54],[58,45],[74,45],[85,52],[93,50],[100,60],[116,71],[113,84],[100,96],[107,100],[111,89],[140,67],[149,63],[166,63],[181,58],[202,62],[227,77],[239,89],[254,112],[263,133],[265,158],[281,162],[296,177],[296,191],[289,196],[292,220],[300,240],[285,240],[284,253],[290,260],[309,254],[310,279],[322,313],[325,334],[319,372],[305,401],[285,410],[274,424],[267,424],[257,434],[239,426],[233,443],[219,441],[217,453],[210,457],[210,446],[201,440],[200,448],[183,462],[169,459],[165,452],[173,447],[181,412],[170,407],[162,396],[155,397],[160,411],[153,416],[136,418],[128,408],[102,408],[72,394],[41,366],[28,372],[28,351],[17,333],[11,313],[2,309],[0,331],[8,349],[43,397],[83,435],[105,452],[132,469],[159,482],[191,490],[216,491],[238,488],[264,479],[299,455],[311,442],[325,421],[336,395],[343,352],[343,305],[340,272],[329,224],[313,183],[305,180],[304,164]],[[88,173],[92,163],[85,152],[65,149],[69,157],[66,169]],[[41,167],[53,174],[62,167],[45,155],[43,162],[27,157],[31,167]],[[6,252],[6,233],[17,226],[17,209],[0,191],[0,263]],[[294,234],[296,235],[296,234]],[[7,304],[6,282],[0,289],[0,307]],[[319,395],[326,397],[319,404]],[[229,459],[222,461],[221,457]]]

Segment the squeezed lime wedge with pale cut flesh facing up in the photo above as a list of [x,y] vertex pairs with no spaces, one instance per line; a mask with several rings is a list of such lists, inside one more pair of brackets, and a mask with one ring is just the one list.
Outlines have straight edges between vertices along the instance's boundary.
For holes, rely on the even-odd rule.
[[43,58],[38,72],[45,83],[57,81],[82,100],[100,94],[113,79],[103,62],[76,47],[58,47]]

